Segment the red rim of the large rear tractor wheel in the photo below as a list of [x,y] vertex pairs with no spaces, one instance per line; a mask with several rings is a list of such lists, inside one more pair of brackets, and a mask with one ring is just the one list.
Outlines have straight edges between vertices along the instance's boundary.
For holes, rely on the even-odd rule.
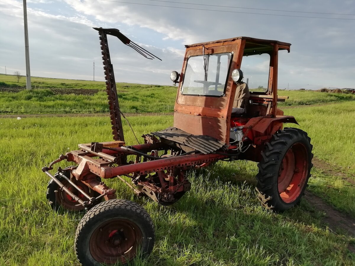
[[308,175],[308,154],[305,145],[295,143],[286,152],[278,176],[278,190],[285,203],[292,203],[301,194]]

